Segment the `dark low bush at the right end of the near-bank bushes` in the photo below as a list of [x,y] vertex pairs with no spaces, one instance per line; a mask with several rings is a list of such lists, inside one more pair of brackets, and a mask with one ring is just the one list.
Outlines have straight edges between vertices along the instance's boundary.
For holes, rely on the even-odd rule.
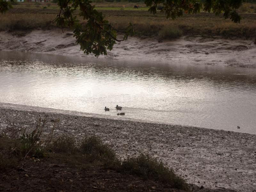
[[188,184],[168,169],[163,163],[157,162],[149,156],[141,154],[139,157],[129,158],[122,163],[122,172],[138,175],[144,179],[155,179],[170,184],[173,188],[188,189]]

